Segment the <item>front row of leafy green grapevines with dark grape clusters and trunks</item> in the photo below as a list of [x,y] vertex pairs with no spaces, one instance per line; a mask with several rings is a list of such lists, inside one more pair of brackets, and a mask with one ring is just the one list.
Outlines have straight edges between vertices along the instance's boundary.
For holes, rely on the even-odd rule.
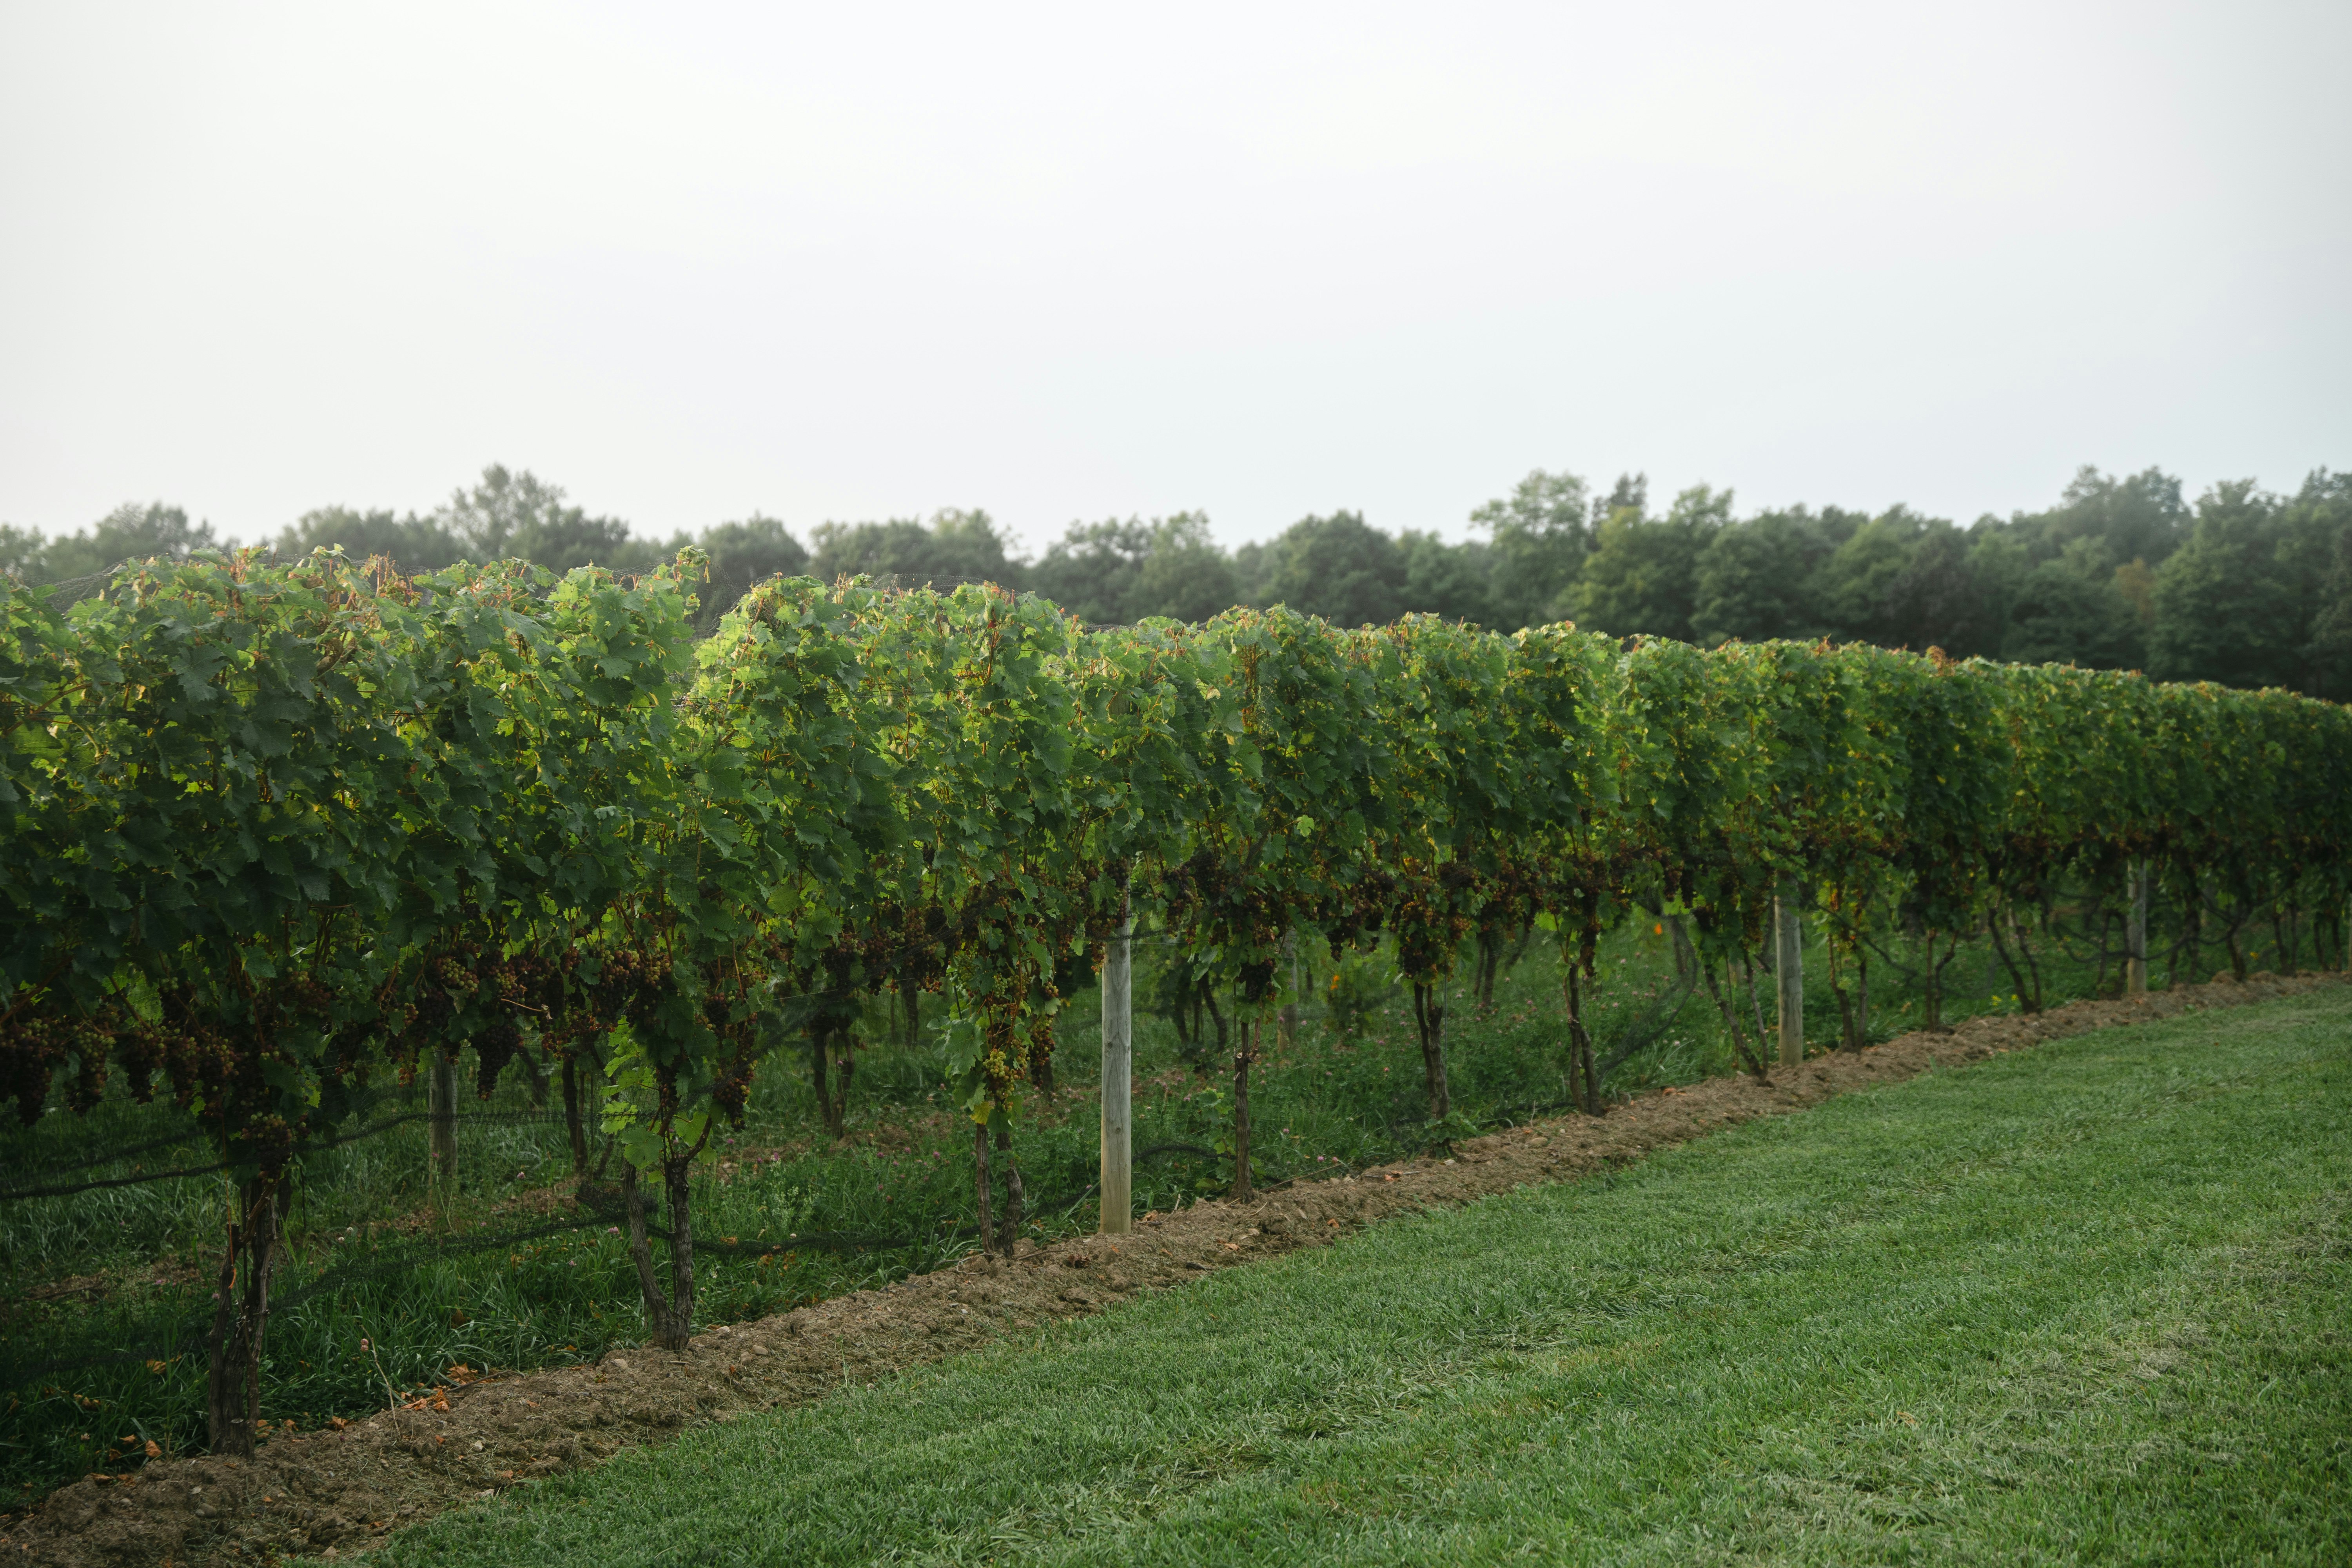
[[696,552],[633,581],[151,562],[66,614],[0,581],[0,1091],[26,1121],[167,1093],[216,1140],[216,1450],[252,1446],[301,1147],[372,1074],[461,1048],[485,1093],[517,1056],[560,1072],[574,1140],[619,1138],[647,1316],[680,1345],[694,1159],[788,1039],[835,1117],[884,990],[946,999],[1009,1248],[1025,1086],[1136,912],[1228,1039],[1244,1194],[1249,1067],[1301,940],[1395,943],[1432,1138],[1463,1131],[1458,954],[1529,929],[1559,945],[1595,1114],[1592,954],[1632,917],[1672,931],[1757,1077],[1757,976],[1795,980],[1804,922],[1849,1044],[1875,936],[1924,943],[1931,1025],[1938,943],[1985,931],[2034,1004],[2060,896],[2117,912],[2136,985],[2152,900],[2192,961],[2241,961],[2256,922],[2345,947],[2352,715],[2293,693],[1279,607],[1087,630],[993,588],[809,578],[696,639],[699,576]]

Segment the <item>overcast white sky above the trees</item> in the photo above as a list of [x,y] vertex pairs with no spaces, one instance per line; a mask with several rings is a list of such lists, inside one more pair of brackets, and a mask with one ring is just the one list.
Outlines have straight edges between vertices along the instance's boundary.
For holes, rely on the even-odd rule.
[[0,0],[0,520],[2352,465],[2352,5]]

